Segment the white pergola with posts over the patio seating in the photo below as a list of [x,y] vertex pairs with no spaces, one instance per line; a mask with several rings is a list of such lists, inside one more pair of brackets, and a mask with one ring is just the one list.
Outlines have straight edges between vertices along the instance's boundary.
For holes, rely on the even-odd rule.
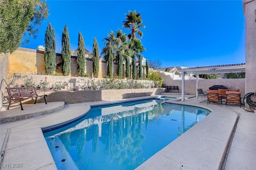
[[[185,68],[180,69],[179,72],[182,72],[182,83],[181,83],[181,101],[184,102],[185,96],[185,74],[195,74],[196,75],[196,89],[198,89],[198,80],[199,74],[221,74],[221,73],[238,73],[245,72],[245,63],[241,64],[225,64],[218,66],[203,66],[203,67],[193,67],[193,68]],[[197,97],[196,91],[196,97]]]

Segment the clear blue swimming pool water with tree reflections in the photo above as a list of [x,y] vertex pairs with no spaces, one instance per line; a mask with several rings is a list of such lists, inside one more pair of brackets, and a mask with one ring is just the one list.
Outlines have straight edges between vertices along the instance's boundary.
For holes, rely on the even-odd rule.
[[133,170],[209,113],[159,99],[127,102],[92,107],[44,136],[58,170]]

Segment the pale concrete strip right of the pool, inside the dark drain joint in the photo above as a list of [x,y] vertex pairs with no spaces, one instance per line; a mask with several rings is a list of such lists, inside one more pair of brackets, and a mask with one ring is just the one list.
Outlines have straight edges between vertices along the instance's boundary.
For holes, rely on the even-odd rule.
[[[206,108],[212,112],[165,148],[138,166],[136,170],[221,169],[238,115],[229,109],[186,102],[174,104]],[[216,122],[218,122],[216,124]]]

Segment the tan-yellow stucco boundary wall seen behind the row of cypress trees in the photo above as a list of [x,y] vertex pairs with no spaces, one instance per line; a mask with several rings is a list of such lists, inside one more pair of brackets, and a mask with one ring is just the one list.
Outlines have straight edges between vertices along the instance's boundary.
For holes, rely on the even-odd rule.
[[[60,54],[56,56],[56,64],[62,62]],[[77,58],[76,56],[71,57],[71,74],[70,76],[77,76]],[[98,78],[103,78],[107,75],[108,64],[105,61],[99,60],[99,74]],[[113,75],[116,74],[117,65],[113,64]],[[44,52],[28,49],[28,48],[18,48],[12,54],[10,54],[10,61],[8,62],[8,81],[12,80],[14,73],[19,74],[41,74],[45,73],[45,62],[44,62]],[[125,78],[125,66],[123,65],[123,76]],[[130,68],[130,70],[132,70]],[[61,66],[59,66],[55,72],[62,73]],[[92,60],[86,60],[85,72],[93,77],[92,73]],[[138,68],[137,68],[138,72]],[[145,69],[143,68],[143,73],[145,74]],[[137,73],[138,75],[138,73]]]

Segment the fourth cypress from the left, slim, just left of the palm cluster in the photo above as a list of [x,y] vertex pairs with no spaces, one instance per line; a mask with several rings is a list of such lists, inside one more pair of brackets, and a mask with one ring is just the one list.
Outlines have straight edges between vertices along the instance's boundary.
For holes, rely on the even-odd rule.
[[99,45],[94,37],[93,48],[92,48],[92,70],[93,70],[93,77],[98,78],[99,76]]

